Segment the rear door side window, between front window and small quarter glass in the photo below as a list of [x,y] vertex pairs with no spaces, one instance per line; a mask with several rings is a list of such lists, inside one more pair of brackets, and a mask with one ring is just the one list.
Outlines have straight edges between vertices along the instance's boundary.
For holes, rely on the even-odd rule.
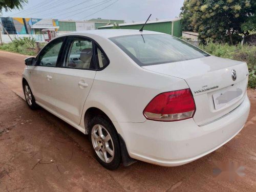
[[72,37],[70,50],[64,67],[74,69],[95,69],[93,42],[82,37]]

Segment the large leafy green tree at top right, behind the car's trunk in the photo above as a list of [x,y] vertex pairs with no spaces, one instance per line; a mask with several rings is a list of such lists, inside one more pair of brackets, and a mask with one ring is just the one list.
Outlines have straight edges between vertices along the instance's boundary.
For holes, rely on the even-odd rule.
[[180,16],[183,29],[198,32],[200,39],[229,40],[233,44],[246,30],[242,25],[251,23],[255,11],[255,0],[185,0]]

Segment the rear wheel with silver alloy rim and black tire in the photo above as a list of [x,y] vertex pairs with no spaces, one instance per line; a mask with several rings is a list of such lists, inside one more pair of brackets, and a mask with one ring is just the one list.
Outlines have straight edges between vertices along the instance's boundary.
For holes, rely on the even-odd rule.
[[94,117],[89,124],[89,138],[98,162],[108,169],[121,163],[119,138],[112,123],[102,116]]

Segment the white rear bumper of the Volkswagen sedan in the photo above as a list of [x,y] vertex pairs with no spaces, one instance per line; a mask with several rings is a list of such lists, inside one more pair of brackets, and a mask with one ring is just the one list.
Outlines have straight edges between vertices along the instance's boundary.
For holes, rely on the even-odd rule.
[[243,129],[249,111],[250,101],[246,96],[236,110],[204,126],[198,126],[193,119],[113,123],[119,128],[132,158],[178,166],[199,159],[231,140]]

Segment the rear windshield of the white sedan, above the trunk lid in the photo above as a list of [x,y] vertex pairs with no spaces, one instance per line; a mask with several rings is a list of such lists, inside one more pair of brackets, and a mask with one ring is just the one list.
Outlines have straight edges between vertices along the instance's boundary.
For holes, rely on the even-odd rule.
[[165,34],[127,35],[110,38],[139,66],[197,59],[209,56],[187,42]]

